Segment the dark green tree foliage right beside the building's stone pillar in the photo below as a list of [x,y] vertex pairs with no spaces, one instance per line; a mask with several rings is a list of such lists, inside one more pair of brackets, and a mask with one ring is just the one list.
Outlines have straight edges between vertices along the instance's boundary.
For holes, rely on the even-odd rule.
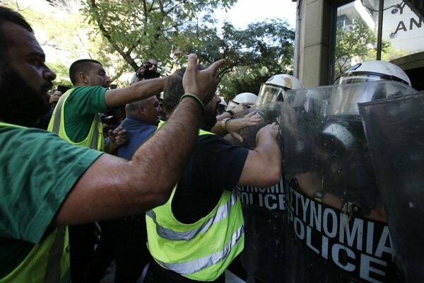
[[[220,50],[227,64],[220,70],[220,92],[226,98],[238,93],[259,93],[261,83],[274,74],[293,73],[295,32],[285,21],[273,19],[251,23],[245,30],[237,30],[230,23],[223,27],[222,40],[210,40],[200,45],[201,56],[209,50]],[[213,59],[208,58],[208,63]]]

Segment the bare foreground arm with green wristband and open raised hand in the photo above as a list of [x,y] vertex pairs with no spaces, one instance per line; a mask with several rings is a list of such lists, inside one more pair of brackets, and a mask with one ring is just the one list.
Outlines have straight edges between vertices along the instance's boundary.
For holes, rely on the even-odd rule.
[[[184,91],[206,105],[216,86],[216,70],[196,68],[189,57],[183,78]],[[131,161],[103,154],[90,166],[64,200],[54,225],[81,224],[137,214],[167,201],[197,141],[203,109],[191,97],[182,99],[172,117],[134,154]]]

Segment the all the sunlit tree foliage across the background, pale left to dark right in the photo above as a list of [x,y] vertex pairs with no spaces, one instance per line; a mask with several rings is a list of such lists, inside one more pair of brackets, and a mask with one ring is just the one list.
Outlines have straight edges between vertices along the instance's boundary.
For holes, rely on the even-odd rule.
[[[196,52],[200,64],[227,59],[218,78],[220,96],[258,93],[273,74],[293,69],[294,30],[273,19],[236,29],[231,23],[216,27],[213,12],[230,8],[237,0],[49,0],[54,12],[40,13],[6,0],[35,30],[43,49],[60,51],[47,63],[66,84],[68,69],[76,59],[100,61],[112,81],[128,84],[122,74],[134,73],[149,58],[158,59],[163,75],[187,64]],[[49,53],[50,54],[50,53]],[[48,54],[48,55],[49,55]],[[119,81],[119,78],[124,81]]]

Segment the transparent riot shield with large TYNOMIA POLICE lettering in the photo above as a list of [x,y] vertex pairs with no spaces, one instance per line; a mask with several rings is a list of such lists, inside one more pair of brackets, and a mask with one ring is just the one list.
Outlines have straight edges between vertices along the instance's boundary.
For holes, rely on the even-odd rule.
[[357,103],[411,91],[391,81],[287,91],[286,282],[399,282]]

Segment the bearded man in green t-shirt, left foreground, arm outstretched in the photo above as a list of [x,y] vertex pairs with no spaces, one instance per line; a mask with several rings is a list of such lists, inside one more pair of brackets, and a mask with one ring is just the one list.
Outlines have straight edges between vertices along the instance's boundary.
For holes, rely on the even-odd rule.
[[[73,146],[23,127],[49,110],[56,74],[30,25],[0,6],[1,282],[69,282],[66,225],[139,214],[166,202],[192,154],[203,105],[225,60],[204,71],[196,62],[192,54],[184,76],[191,95],[131,161]],[[125,92],[147,97],[136,84]]]

